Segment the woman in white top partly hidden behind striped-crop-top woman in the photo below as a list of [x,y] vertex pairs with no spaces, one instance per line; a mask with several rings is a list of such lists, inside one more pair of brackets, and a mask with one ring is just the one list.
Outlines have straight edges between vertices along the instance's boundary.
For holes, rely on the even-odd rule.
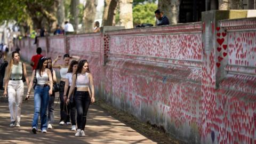
[[[78,62],[73,60],[71,61],[70,66],[68,67],[68,73],[66,74],[65,89],[64,89],[65,96],[69,92],[70,86],[72,84],[72,76],[76,73],[77,65],[78,65]],[[68,111],[68,114],[70,114],[71,124],[72,124],[71,131],[76,130],[76,107],[75,107],[75,100],[74,100],[75,97],[73,97],[75,92],[76,92],[76,87],[74,92],[70,96],[69,105],[67,105],[67,108],[68,108],[67,111]]]

